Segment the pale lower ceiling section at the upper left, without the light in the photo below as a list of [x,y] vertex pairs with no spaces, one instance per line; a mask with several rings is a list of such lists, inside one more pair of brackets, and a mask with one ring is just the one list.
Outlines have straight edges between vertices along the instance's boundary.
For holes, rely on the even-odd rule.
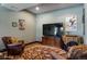
[[37,3],[3,3],[1,5],[13,11],[21,11],[26,8],[35,7]]

